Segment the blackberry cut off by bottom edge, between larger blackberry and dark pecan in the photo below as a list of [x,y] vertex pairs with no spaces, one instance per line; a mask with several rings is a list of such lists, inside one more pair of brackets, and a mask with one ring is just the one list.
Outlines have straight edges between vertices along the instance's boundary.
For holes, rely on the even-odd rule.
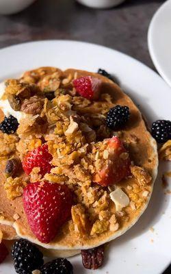
[[47,262],[40,269],[41,274],[73,274],[72,264],[63,258]]

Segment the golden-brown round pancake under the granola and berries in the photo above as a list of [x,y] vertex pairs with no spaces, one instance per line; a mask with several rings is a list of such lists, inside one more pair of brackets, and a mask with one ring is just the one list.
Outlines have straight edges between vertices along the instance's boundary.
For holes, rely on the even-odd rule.
[[[102,75],[86,71],[78,71],[75,69],[68,69],[62,72],[59,69],[55,70],[55,68],[42,68],[25,73],[21,78],[21,81],[32,81],[42,88],[42,85],[44,84],[42,78],[45,76],[49,77],[49,75],[55,73],[55,71],[59,73],[60,79],[66,80],[64,81],[64,86],[66,89],[69,89],[70,86],[72,86],[71,81],[74,77],[92,76],[101,80],[101,99],[94,101],[94,103],[88,103],[88,105],[82,106],[81,104],[73,103],[72,110],[77,111],[79,116],[85,116],[85,119],[87,119],[86,121],[89,121],[90,123],[93,119],[93,122],[95,123],[94,116],[98,116],[99,114],[104,116],[106,114],[107,110],[104,109],[104,104],[105,108],[108,108],[108,110],[114,105],[129,106],[131,116],[127,126],[119,132],[120,139],[126,142],[133,164],[135,164],[135,166],[141,166],[145,169],[152,179],[150,183],[145,186],[139,184],[136,176],[126,177],[117,183],[117,187],[122,188],[122,190],[124,190],[124,192],[128,195],[130,203],[122,210],[117,211],[115,203],[111,200],[109,201],[107,212],[116,217],[116,223],[113,229],[110,229],[110,225],[108,225],[102,233],[95,232],[92,235],[90,233],[82,234],[75,229],[75,224],[73,224],[73,221],[70,220],[62,226],[60,231],[57,233],[57,236],[55,236],[51,242],[45,244],[40,242],[29,228],[27,217],[23,210],[22,197],[16,197],[14,200],[10,200],[7,197],[4,189],[4,160],[4,162],[1,162],[0,208],[1,212],[3,212],[3,220],[10,222],[12,227],[16,229],[16,234],[22,238],[27,238],[28,240],[31,240],[31,242],[47,249],[89,249],[102,245],[110,240],[114,240],[118,236],[124,234],[124,232],[127,232],[127,230],[137,222],[144,210],[146,210],[148,201],[150,200],[150,196],[153,191],[153,184],[157,176],[157,144],[148,132],[144,119],[142,119],[142,114],[140,113],[140,110],[138,110],[135,103],[133,103],[133,101],[124,92],[122,92],[117,84],[111,82],[111,80],[103,77]],[[104,101],[103,94],[111,95],[111,101],[108,99],[105,99]],[[101,134],[103,135],[104,132],[101,132]],[[101,190],[104,191],[103,188],[101,188]],[[110,191],[111,190],[109,189],[105,190],[108,196]],[[19,218],[17,220],[14,219],[14,214],[18,214]],[[105,225],[105,220],[103,221]]]

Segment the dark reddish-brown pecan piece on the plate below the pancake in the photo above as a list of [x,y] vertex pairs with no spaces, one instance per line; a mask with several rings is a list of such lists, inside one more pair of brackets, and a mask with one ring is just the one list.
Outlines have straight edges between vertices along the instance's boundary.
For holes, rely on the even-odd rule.
[[82,262],[85,269],[98,269],[104,260],[104,245],[94,249],[81,250]]

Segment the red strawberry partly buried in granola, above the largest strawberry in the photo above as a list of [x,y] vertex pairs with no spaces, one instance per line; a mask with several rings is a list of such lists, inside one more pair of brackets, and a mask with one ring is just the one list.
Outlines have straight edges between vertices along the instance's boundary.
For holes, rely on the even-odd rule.
[[40,167],[40,174],[44,176],[51,171],[52,155],[48,151],[47,145],[37,147],[32,151],[29,151],[23,160],[23,169],[26,174],[29,175],[34,167]]

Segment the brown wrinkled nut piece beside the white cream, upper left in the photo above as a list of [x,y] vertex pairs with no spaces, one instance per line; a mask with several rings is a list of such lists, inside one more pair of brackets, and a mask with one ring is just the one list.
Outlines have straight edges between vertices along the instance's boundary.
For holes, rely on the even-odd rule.
[[23,101],[21,105],[21,111],[33,115],[40,114],[40,112],[42,111],[43,104],[44,99],[35,95]]

